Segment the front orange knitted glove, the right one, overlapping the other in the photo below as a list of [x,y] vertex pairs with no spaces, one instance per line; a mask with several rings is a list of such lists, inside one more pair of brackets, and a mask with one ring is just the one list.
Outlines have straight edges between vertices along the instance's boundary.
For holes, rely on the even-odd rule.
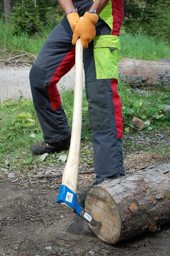
[[97,14],[86,11],[82,20],[79,21],[74,30],[72,44],[75,45],[77,39],[80,38],[83,48],[88,48],[88,44],[96,35],[96,28],[94,25],[97,23],[98,19],[99,17]]

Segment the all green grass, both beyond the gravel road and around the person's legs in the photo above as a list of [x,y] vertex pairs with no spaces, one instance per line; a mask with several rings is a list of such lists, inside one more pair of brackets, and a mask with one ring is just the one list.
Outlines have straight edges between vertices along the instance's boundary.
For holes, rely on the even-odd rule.
[[[40,48],[48,36],[48,31],[43,35],[28,37],[26,33],[14,36],[11,28],[0,21],[0,59],[5,58],[14,50],[27,51],[37,55]],[[156,42],[152,37],[144,36],[140,33],[132,36],[121,34],[121,50],[119,60],[130,57],[141,60],[160,60],[170,58],[170,46],[164,42]],[[124,134],[129,136],[142,135],[143,137],[156,136],[156,130],[170,134],[170,111],[164,113],[164,105],[169,105],[170,89],[164,90],[161,85],[152,88],[152,91],[145,91],[139,95],[136,91],[124,83],[119,82],[119,95],[122,99],[123,128]],[[71,89],[61,92],[62,105],[65,109],[69,125],[72,125],[73,100],[74,95]],[[133,115],[144,120],[145,126],[139,131],[131,125]],[[21,178],[26,178],[28,174],[36,174],[36,166],[48,165],[59,166],[60,154],[68,155],[68,152],[60,154],[48,154],[45,159],[40,156],[30,154],[30,145],[43,140],[42,130],[37,119],[32,100],[9,99],[0,103],[0,168],[7,168],[9,172],[15,172]],[[88,121],[88,103],[83,91],[82,108],[82,145],[92,145],[92,134]],[[164,147],[163,143],[145,147],[142,143],[136,145],[136,150],[146,150],[150,154],[169,155],[170,146]],[[134,143],[125,140],[125,148],[134,148]],[[80,152],[81,159],[87,164],[93,164],[93,149],[86,148]]]

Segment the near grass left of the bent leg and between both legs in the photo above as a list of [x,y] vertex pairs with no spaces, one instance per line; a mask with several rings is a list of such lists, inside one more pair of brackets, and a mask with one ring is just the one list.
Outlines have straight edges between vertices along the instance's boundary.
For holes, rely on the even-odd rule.
[[[72,125],[74,94],[70,89],[61,93],[62,104],[68,118],[69,125]],[[24,178],[26,174],[33,174],[34,166],[54,165],[60,166],[59,156],[68,155],[68,151],[61,154],[48,154],[45,159],[41,156],[30,154],[30,145],[42,141],[42,130],[37,119],[32,100],[8,99],[0,105],[0,168],[8,168],[8,171],[16,172]],[[88,122],[88,106],[83,92],[82,108],[82,146],[91,144],[92,134]],[[91,144],[92,145],[92,144]],[[93,163],[92,147],[82,152],[82,160],[87,164]],[[1,172],[1,171],[0,171]]]

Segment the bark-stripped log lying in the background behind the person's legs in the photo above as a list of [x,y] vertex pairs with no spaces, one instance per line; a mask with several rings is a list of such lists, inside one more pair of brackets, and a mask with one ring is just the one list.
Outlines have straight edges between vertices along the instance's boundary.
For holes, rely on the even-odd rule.
[[125,58],[118,63],[119,79],[137,88],[170,84],[170,60],[160,62]]

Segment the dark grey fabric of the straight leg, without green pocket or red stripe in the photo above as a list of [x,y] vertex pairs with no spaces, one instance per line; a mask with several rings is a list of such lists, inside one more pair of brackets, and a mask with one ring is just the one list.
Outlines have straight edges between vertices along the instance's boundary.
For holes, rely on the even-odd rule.
[[85,89],[93,134],[96,181],[125,175],[122,138],[117,137],[111,79],[96,79],[93,42],[83,52]]

